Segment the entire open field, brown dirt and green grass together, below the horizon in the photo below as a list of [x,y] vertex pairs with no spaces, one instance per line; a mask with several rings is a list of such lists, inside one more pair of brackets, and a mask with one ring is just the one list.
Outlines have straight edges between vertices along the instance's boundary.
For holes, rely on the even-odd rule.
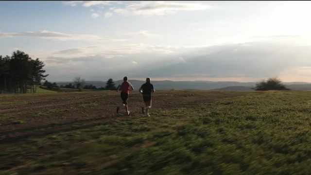
[[0,175],[310,175],[311,93],[0,96]]

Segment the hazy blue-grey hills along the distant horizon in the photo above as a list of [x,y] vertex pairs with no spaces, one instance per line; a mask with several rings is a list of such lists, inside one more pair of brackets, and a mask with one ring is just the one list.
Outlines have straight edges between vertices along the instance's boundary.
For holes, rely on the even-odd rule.
[[[140,88],[145,81],[129,80],[135,89]],[[58,86],[65,86],[72,82],[56,82]],[[122,80],[115,81],[116,86],[122,83]],[[249,91],[253,90],[255,82],[213,82],[213,81],[152,81],[157,90],[227,90],[227,91]],[[287,88],[292,90],[311,90],[311,83],[306,82],[285,82]],[[97,88],[105,87],[104,81],[86,81],[86,85],[93,85]]]

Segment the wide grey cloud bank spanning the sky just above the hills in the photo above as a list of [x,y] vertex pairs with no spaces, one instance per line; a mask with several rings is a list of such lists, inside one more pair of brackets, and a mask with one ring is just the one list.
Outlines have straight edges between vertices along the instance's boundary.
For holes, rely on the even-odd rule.
[[71,80],[75,73],[87,80],[105,80],[110,77],[103,75],[111,74],[114,79],[126,74],[135,78],[152,75],[162,79],[196,77],[216,81],[310,76],[311,46],[268,41],[217,46],[92,45],[35,55],[46,63],[53,81]]

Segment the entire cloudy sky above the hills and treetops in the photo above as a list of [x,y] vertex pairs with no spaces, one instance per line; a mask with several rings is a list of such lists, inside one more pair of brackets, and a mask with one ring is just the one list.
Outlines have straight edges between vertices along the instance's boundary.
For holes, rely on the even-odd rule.
[[311,1],[0,1],[0,55],[49,81],[311,82]]

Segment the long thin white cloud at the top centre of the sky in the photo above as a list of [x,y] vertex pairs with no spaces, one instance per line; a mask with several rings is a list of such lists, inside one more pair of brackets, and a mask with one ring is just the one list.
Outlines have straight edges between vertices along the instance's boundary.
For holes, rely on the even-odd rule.
[[210,5],[193,2],[172,2],[172,1],[140,1],[139,3],[127,4],[125,8],[110,8],[116,13],[124,16],[153,16],[176,13],[178,11],[197,11],[211,8]]

